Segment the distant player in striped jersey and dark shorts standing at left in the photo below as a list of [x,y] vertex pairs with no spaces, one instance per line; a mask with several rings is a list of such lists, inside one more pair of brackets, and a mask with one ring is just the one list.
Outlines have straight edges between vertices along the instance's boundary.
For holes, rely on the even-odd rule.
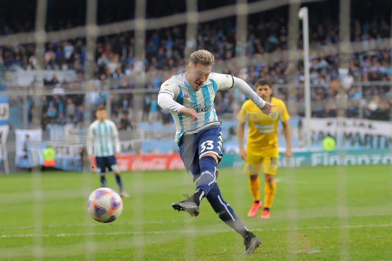
[[116,177],[119,194],[121,197],[129,197],[122,190],[120,170],[116,158],[120,152],[120,141],[116,124],[106,119],[106,109],[98,108],[95,112],[96,120],[90,124],[87,133],[87,152],[91,162],[96,161],[95,173],[101,176],[101,186],[106,188],[106,168],[113,171]]

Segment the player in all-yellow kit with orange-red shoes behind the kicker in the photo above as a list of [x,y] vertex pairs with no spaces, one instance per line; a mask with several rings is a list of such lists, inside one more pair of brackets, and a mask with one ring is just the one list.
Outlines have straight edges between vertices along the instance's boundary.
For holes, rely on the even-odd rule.
[[[248,217],[255,217],[262,206],[260,201],[260,179],[258,174],[264,172],[264,209],[261,218],[269,218],[269,210],[274,201],[276,183],[274,176],[278,169],[278,121],[283,125],[284,138],[286,140],[285,157],[289,159],[291,152],[291,130],[288,123],[290,115],[286,105],[281,99],[273,97],[273,89],[264,79],[260,79],[255,85],[256,93],[265,101],[269,101],[276,107],[269,115],[263,114],[251,100],[243,103],[242,109],[237,115],[237,138],[239,153],[245,161],[244,172],[249,175],[249,187],[252,192],[254,203],[248,213]],[[248,123],[249,134],[247,148],[243,147],[244,126]]]

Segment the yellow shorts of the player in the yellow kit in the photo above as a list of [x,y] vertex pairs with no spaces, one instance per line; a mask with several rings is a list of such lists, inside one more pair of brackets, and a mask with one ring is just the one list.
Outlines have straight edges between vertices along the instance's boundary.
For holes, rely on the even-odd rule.
[[247,149],[247,160],[243,166],[243,171],[248,175],[259,174],[263,170],[264,174],[275,175],[278,170],[278,147],[255,151]]

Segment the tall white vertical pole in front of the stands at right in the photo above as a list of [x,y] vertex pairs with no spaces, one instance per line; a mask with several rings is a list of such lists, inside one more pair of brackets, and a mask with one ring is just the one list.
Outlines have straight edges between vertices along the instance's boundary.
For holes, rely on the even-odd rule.
[[310,104],[310,71],[309,71],[309,17],[308,8],[303,7],[298,13],[298,17],[302,20],[302,36],[303,36],[303,49],[304,49],[304,76],[305,76],[305,119],[306,119],[306,145],[310,150],[312,139],[310,131],[310,117],[311,117],[311,104]]

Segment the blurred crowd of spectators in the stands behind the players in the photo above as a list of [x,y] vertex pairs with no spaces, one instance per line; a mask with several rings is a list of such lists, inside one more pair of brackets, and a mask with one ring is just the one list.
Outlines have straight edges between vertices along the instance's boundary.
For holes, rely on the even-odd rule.
[[[274,51],[287,50],[287,14],[276,13],[274,19],[258,14],[250,15],[248,21],[248,39],[245,49],[247,57],[262,56]],[[311,17],[312,18],[312,17]],[[310,20],[310,45],[328,46],[339,41],[339,24],[336,17],[312,18]],[[64,23],[71,27],[70,21]],[[6,25],[4,25],[5,27]],[[23,25],[18,25],[22,27]],[[7,25],[9,28],[9,25]],[[61,28],[61,25],[58,26]],[[31,28],[30,28],[31,29]],[[30,30],[29,29],[29,30]],[[17,31],[20,31],[19,29]],[[7,34],[7,30],[0,30]],[[9,30],[8,32],[12,32]],[[156,92],[161,83],[171,75],[184,69],[185,47],[187,45],[185,25],[146,31],[145,52],[135,55],[135,37],[131,32],[97,38],[95,61],[92,65],[93,89],[87,98],[82,95],[64,95],[63,90],[80,90],[85,84],[85,39],[56,41],[45,44],[43,57],[44,69],[75,70],[76,77],[59,81],[56,75],[44,81],[54,88],[54,95],[43,96],[41,101],[31,99],[29,120],[34,123],[35,109],[42,107],[42,125],[65,124],[84,120],[85,103],[91,108],[104,105],[109,97],[102,90],[133,89],[143,83],[149,93],[142,98],[142,119],[154,122],[163,119],[170,121],[167,112],[160,111],[156,105]],[[380,40],[390,36],[390,24],[384,17],[372,20],[353,19],[351,22],[351,40]],[[301,37],[299,37],[301,38]],[[219,19],[198,25],[197,46],[213,52],[217,61],[226,61],[236,56],[236,30],[234,18]],[[302,42],[298,42],[302,47]],[[339,56],[311,58],[310,77],[312,88],[312,113],[315,117],[334,117],[345,114],[349,117],[362,115],[372,119],[390,118],[390,87],[374,85],[374,81],[392,81],[391,49],[367,50],[351,54],[348,71],[339,72]],[[38,67],[34,44],[0,46],[0,65],[12,68],[19,66],[26,70]],[[302,84],[304,73],[302,63],[292,73],[288,62],[257,64],[241,69],[230,67],[224,73],[242,77],[249,83],[260,77],[274,85]],[[342,76],[343,75],[343,76]],[[340,77],[340,78],[339,78]],[[369,82],[369,85],[357,86],[355,82]],[[30,88],[34,88],[34,83]],[[279,88],[275,95],[286,102],[295,101],[298,113],[303,113],[303,88]],[[111,98],[112,118],[120,128],[132,127],[137,109],[134,108],[132,94],[113,94]],[[366,103],[361,102],[366,100]],[[235,96],[232,92],[219,92],[215,99],[217,113],[235,112]],[[363,108],[363,109],[361,109]],[[362,111],[361,111],[362,110]]]

